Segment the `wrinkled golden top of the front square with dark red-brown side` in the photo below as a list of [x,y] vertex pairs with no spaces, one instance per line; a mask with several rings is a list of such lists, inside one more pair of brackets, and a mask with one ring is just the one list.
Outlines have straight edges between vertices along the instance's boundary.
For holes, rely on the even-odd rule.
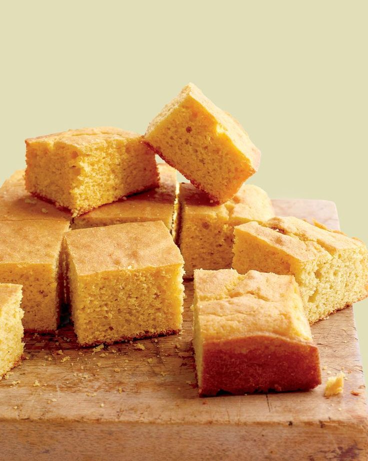
[[257,334],[312,341],[293,276],[195,270],[194,290],[204,341]]

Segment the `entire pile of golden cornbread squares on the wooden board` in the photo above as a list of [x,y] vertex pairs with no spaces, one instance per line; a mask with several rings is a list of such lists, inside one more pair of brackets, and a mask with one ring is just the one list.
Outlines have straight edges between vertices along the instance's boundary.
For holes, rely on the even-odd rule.
[[63,306],[83,346],[179,332],[185,277],[200,395],[320,383],[309,324],[367,296],[368,251],[275,216],[244,183],[259,150],[198,88],[144,136],[99,127],[25,143],[25,172],[0,188],[0,375],[23,327],[56,331]]

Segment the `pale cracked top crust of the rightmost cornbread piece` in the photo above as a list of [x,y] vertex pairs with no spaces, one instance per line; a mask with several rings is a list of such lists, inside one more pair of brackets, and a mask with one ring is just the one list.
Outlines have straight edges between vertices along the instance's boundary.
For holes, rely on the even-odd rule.
[[338,250],[364,247],[355,238],[347,237],[339,231],[330,231],[323,226],[309,224],[293,217],[274,217],[266,222],[248,222],[235,227],[237,232],[245,232],[279,251],[299,261],[308,261],[321,254],[334,254]]

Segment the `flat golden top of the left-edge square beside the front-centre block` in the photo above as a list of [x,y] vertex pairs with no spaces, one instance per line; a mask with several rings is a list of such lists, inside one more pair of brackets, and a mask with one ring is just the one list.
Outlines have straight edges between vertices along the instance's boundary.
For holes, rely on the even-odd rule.
[[52,220],[0,221],[0,264],[54,264],[69,223]]

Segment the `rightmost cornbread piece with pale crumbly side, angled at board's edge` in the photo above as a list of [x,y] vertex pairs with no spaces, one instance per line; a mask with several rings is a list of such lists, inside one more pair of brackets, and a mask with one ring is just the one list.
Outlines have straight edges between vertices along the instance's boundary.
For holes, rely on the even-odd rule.
[[232,267],[292,274],[310,323],[367,296],[368,252],[358,239],[295,217],[234,229]]

